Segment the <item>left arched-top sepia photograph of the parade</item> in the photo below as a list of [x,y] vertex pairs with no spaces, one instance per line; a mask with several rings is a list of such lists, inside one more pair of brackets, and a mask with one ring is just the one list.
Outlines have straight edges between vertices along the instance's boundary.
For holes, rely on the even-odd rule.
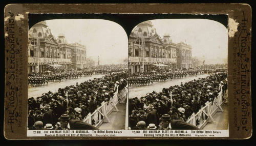
[[128,39],[119,24],[46,20],[28,37],[28,130],[127,128]]

